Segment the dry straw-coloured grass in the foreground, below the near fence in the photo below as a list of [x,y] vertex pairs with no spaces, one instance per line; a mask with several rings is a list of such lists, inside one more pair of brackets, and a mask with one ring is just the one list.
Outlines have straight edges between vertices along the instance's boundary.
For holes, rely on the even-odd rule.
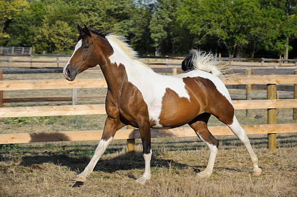
[[208,160],[208,149],[198,138],[153,139],[152,178],[141,186],[140,141],[136,153],[126,152],[125,140],[114,140],[84,184],[71,181],[88,163],[96,142],[57,142],[16,145],[3,152],[0,196],[50,197],[194,197],[297,195],[297,136],[278,136],[278,149],[268,151],[266,136],[250,136],[262,175],[252,177],[246,149],[233,136],[220,136],[214,173],[195,179]]

